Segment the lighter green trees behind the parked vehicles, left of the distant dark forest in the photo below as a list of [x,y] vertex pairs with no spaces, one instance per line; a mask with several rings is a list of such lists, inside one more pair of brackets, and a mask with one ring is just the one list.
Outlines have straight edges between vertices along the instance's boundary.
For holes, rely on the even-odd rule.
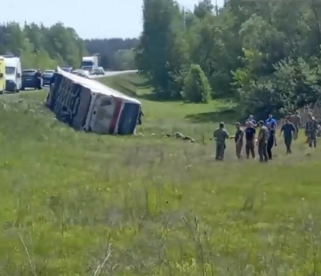
[[79,68],[87,50],[76,31],[63,23],[47,28],[8,22],[0,28],[0,53],[20,56],[23,68],[46,70],[65,64]]

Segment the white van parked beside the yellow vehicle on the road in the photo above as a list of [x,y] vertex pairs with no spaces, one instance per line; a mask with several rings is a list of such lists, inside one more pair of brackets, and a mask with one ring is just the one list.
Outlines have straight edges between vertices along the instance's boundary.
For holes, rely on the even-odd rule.
[[5,90],[19,92],[21,89],[21,63],[19,57],[4,56],[5,59]]

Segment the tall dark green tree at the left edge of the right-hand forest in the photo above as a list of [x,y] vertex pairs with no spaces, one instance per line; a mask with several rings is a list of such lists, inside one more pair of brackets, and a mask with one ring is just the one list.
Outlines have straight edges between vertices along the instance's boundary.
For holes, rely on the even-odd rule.
[[136,65],[163,98],[178,97],[188,63],[184,16],[173,0],[143,1],[143,33]]

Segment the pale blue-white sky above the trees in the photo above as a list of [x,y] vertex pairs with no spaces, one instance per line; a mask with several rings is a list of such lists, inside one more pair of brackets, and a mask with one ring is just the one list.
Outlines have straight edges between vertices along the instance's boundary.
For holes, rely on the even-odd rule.
[[[0,20],[43,22],[50,26],[61,21],[74,28],[81,38],[134,38],[142,31],[143,0],[50,0],[1,1],[6,11]],[[193,10],[198,0],[179,0],[179,4]],[[215,4],[215,0],[212,0]],[[217,0],[222,6],[223,0]],[[11,11],[11,12],[9,12]]]

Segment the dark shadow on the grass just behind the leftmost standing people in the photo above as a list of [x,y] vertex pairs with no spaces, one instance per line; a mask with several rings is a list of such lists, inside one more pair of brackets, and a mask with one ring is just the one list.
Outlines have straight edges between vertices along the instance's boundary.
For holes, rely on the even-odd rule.
[[234,109],[218,108],[213,112],[189,114],[185,118],[192,123],[224,122],[231,124],[237,121],[237,112]]

